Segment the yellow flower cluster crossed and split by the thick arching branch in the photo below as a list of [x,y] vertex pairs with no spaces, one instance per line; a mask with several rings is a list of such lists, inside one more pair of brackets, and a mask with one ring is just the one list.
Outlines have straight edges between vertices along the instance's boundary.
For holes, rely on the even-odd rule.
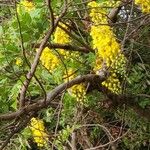
[[[72,69],[68,70],[68,76],[65,74],[64,79],[65,81],[70,81],[76,77],[76,74],[73,72]],[[84,83],[76,84],[68,89],[68,92],[71,96],[75,97],[77,101],[83,102],[85,100],[86,89]]]

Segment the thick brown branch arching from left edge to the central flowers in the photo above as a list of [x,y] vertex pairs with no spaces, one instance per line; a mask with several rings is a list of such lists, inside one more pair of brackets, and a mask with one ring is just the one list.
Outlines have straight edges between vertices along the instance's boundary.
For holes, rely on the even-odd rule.
[[95,75],[95,74],[87,74],[87,75],[83,75],[83,76],[78,76],[75,79],[63,83],[59,86],[57,86],[55,89],[53,89],[52,91],[50,91],[47,94],[47,99],[46,101],[39,100],[37,103],[34,104],[30,104],[28,106],[22,107],[21,109],[19,109],[16,112],[11,112],[8,114],[3,114],[0,115],[0,120],[13,120],[17,117],[22,117],[23,115],[27,115],[29,112],[32,111],[40,111],[43,108],[47,108],[50,104],[51,101],[53,99],[55,99],[60,93],[62,93],[65,89],[72,87],[75,84],[80,84],[82,82],[93,82],[93,81],[97,81],[98,83],[101,83],[102,81],[105,80],[105,76],[99,76],[99,75]]

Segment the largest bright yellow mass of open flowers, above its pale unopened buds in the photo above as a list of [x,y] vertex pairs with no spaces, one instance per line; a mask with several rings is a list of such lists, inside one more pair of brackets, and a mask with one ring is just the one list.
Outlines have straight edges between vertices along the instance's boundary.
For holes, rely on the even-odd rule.
[[109,26],[92,26],[91,36],[93,38],[93,48],[97,49],[97,57],[101,57],[106,65],[110,67],[114,59],[120,52],[120,45]]

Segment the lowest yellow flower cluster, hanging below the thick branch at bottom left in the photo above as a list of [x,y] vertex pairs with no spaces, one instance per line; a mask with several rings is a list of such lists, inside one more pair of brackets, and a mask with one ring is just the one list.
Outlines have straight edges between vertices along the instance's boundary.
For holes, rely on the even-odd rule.
[[37,146],[46,146],[48,142],[48,135],[45,132],[44,122],[40,119],[32,118],[29,128],[32,131],[32,135]]

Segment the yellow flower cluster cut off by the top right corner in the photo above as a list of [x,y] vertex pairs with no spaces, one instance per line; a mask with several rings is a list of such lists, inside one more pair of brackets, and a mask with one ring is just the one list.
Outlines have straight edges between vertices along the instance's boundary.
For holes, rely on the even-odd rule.
[[150,13],[150,0],[135,0],[135,4],[141,6],[143,13]]

